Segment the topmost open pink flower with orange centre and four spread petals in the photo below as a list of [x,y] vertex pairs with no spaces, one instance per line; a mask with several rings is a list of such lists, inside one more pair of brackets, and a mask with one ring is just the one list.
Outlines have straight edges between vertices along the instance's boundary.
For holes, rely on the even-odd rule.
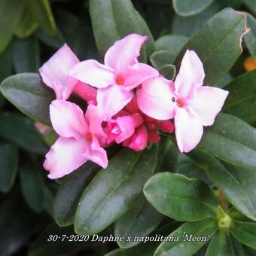
[[69,73],[73,78],[99,88],[97,106],[104,112],[104,120],[109,120],[130,102],[133,98],[131,90],[159,75],[156,69],[138,62],[139,51],[146,39],[141,35],[127,35],[105,53],[105,65],[89,59],[78,63]]

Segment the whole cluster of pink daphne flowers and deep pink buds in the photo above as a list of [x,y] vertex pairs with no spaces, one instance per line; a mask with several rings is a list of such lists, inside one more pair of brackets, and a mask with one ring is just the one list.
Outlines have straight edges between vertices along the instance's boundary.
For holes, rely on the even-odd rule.
[[[138,61],[147,37],[131,34],[105,53],[104,65],[79,62],[65,44],[39,69],[44,84],[56,93],[50,120],[59,134],[46,155],[49,178],[59,178],[87,160],[108,165],[104,148],[113,142],[141,151],[172,133],[181,152],[196,147],[203,126],[212,125],[228,92],[203,86],[203,64],[187,50],[175,81]],[[68,101],[72,93],[87,102],[84,111]],[[172,123],[174,119],[174,124]]]

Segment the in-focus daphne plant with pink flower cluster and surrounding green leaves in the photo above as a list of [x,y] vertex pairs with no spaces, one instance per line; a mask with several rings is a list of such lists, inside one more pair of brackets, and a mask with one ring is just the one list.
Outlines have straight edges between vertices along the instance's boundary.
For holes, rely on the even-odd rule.
[[[189,16],[211,3],[173,7]],[[191,38],[157,41],[130,1],[90,0],[90,18],[99,59],[63,44],[38,74],[0,87],[38,130],[56,133],[42,164],[59,184],[56,224],[114,236],[109,256],[256,249],[256,73],[226,79],[245,14],[225,8]]]

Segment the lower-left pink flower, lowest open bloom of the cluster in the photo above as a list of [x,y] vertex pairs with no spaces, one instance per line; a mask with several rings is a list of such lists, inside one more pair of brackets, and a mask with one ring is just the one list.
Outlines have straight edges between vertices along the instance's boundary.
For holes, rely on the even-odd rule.
[[50,120],[59,139],[50,148],[44,161],[49,178],[60,178],[77,169],[87,160],[108,165],[106,151],[100,141],[104,140],[102,117],[94,105],[89,105],[84,116],[78,105],[64,100],[50,104]]

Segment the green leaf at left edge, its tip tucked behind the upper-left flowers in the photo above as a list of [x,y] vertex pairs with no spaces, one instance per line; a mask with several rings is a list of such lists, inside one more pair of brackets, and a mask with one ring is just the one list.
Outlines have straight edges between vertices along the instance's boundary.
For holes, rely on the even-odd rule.
[[24,114],[50,125],[49,105],[55,96],[50,88],[41,83],[39,75],[12,75],[2,82],[0,90]]

